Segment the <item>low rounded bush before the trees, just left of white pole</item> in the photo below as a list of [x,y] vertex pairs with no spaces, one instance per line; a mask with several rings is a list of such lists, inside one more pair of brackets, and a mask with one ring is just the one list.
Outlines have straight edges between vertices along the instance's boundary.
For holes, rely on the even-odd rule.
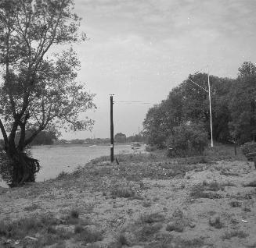
[[203,125],[177,126],[171,136],[168,137],[168,156],[202,154],[207,143],[207,131]]

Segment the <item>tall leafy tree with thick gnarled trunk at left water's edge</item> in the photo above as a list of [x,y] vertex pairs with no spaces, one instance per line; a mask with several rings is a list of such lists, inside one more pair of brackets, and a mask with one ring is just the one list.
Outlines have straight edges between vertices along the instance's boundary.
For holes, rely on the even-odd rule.
[[[81,112],[95,108],[93,94],[76,82],[79,61],[68,44],[85,40],[72,0],[0,2],[0,129],[11,168],[9,185],[34,182],[38,161],[24,149],[45,129],[89,129]],[[51,56],[53,47],[65,51]],[[26,136],[26,129],[33,130]],[[20,133],[15,142],[16,133]]]

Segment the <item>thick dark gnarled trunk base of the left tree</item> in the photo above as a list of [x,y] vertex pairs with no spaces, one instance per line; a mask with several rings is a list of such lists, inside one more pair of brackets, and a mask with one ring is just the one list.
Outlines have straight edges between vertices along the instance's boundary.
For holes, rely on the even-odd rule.
[[12,161],[12,180],[9,183],[10,187],[22,186],[24,182],[34,182],[35,173],[39,171],[40,165],[38,160],[30,158],[23,151],[18,151],[16,148],[7,151],[9,159]]

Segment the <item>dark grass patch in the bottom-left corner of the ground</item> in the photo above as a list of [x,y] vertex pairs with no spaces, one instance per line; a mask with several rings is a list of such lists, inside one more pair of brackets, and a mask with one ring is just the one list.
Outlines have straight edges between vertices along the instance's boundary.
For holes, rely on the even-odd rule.
[[35,247],[52,246],[65,247],[64,240],[76,238],[84,243],[93,243],[103,239],[103,232],[90,231],[85,227],[87,223],[79,219],[77,210],[70,211],[65,217],[66,225],[75,225],[74,232],[59,226],[61,220],[53,218],[51,214],[41,217],[21,218],[17,221],[0,221],[0,237],[6,239],[20,239],[26,246],[26,236],[37,237],[34,239]]

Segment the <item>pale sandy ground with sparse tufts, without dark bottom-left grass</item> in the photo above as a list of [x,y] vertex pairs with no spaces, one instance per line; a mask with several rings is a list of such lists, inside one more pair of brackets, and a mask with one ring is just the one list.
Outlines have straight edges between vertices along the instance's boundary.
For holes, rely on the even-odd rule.
[[[131,168],[137,165],[156,166],[132,162]],[[103,232],[93,246],[72,237],[63,247],[256,247],[256,190],[244,186],[256,179],[253,163],[214,161],[176,175],[171,166],[163,167],[157,168],[161,177],[129,179],[121,165],[98,162],[63,179],[0,189],[0,220],[49,213],[62,219],[77,210],[89,220],[87,228]],[[211,189],[213,182],[220,187]],[[118,197],[117,189],[131,190],[132,196]],[[0,247],[22,246],[2,236]]]

